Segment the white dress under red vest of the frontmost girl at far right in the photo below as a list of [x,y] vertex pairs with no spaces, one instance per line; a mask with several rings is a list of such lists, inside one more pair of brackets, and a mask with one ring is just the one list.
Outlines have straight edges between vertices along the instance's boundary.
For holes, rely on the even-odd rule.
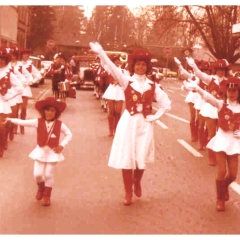
[[[206,94],[204,99],[216,107],[218,112],[223,106],[223,100],[214,98],[210,93]],[[240,104],[235,102],[228,102],[227,108],[231,109],[233,113],[240,113]],[[214,152],[225,152],[227,155],[240,154],[240,139],[233,135],[233,131],[223,131],[220,127],[216,135],[210,140],[206,146]]]

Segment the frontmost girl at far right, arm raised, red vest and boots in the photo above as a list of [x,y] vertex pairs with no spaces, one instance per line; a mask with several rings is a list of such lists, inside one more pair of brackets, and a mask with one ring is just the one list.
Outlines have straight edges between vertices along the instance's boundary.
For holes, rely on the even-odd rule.
[[191,80],[184,81],[187,88],[196,90],[218,111],[218,131],[209,141],[207,148],[216,153],[217,160],[217,202],[218,211],[225,210],[225,201],[229,200],[228,186],[237,177],[238,155],[240,154],[240,80],[229,77],[221,83],[224,100],[215,98],[201,89]]

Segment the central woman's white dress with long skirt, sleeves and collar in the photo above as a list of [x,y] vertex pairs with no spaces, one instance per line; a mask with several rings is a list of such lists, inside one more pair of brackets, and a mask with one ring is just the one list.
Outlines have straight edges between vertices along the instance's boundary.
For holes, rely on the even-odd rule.
[[[145,75],[134,74],[131,77],[122,73],[121,69],[115,66],[105,52],[102,52],[99,58],[104,69],[119,82],[123,89],[126,89],[128,84],[141,94],[151,89],[150,84],[154,82],[146,78]],[[170,99],[156,84],[154,95],[158,105],[157,113],[163,114],[171,109]],[[125,109],[117,125],[108,166],[116,169],[135,169],[136,167],[145,169],[146,163],[153,163],[155,160],[153,127],[154,123],[145,121],[142,113],[130,115]]]

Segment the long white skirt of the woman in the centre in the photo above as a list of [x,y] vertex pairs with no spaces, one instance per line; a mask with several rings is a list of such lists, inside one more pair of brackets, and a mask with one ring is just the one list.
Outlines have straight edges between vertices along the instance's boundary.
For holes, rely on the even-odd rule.
[[108,166],[116,169],[145,169],[155,161],[153,124],[141,113],[131,116],[125,109],[116,129]]

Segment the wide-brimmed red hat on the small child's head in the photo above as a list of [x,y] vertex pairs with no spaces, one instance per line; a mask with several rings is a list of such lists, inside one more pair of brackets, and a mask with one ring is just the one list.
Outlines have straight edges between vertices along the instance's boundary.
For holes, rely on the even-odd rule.
[[47,97],[44,100],[35,103],[35,108],[39,112],[44,110],[47,106],[55,107],[60,113],[62,113],[67,105],[65,102],[57,101],[55,97]]

